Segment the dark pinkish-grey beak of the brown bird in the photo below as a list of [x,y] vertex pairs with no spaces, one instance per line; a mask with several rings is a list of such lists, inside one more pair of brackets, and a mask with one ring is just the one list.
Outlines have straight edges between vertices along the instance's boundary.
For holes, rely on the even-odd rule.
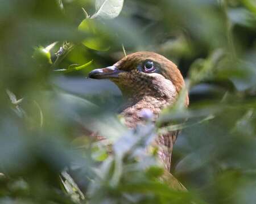
[[118,78],[118,74],[124,71],[117,69],[116,66],[109,66],[103,69],[95,69],[89,73],[89,78],[92,79],[113,79]]

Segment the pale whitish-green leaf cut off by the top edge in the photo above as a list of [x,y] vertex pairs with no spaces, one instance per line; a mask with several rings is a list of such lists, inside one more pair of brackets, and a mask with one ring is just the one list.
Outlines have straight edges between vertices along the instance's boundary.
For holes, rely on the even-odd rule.
[[123,0],[96,0],[96,14],[91,18],[117,18],[123,8]]

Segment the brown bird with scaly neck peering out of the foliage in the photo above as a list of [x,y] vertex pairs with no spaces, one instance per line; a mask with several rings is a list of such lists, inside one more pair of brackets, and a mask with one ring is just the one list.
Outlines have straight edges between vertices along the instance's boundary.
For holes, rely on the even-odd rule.
[[[119,114],[130,129],[144,124],[142,113],[152,113],[152,121],[156,121],[160,112],[174,105],[181,90],[185,90],[184,78],[175,63],[154,52],[131,53],[112,66],[90,71],[88,76],[109,79],[118,86],[125,101]],[[184,106],[188,107],[188,104],[185,90]],[[178,134],[178,130],[169,131],[156,138],[159,159],[168,172]]]

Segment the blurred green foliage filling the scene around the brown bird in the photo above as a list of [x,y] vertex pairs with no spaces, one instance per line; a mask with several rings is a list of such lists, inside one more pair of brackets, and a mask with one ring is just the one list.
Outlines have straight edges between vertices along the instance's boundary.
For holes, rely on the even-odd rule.
[[[255,203],[254,0],[0,2],[0,203]],[[123,48],[174,61],[189,108],[127,130],[117,88],[86,79]],[[176,129],[172,173],[188,192],[144,152]]]

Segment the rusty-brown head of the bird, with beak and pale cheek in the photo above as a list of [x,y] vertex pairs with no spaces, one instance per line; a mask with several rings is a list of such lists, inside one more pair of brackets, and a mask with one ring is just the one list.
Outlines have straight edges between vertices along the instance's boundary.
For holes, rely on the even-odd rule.
[[[124,96],[138,100],[143,96],[174,100],[185,86],[177,66],[153,52],[129,54],[113,66],[91,71],[89,78],[110,79]],[[185,103],[188,105],[188,97]]]

